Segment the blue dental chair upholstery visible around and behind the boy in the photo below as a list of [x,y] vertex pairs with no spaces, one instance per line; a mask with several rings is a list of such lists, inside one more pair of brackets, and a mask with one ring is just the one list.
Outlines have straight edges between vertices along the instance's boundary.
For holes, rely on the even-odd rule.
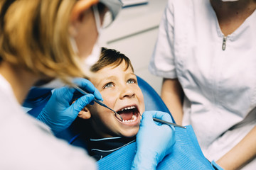
[[[137,77],[137,80],[139,87],[142,89],[142,93],[144,95],[145,110],[163,111],[171,115],[168,108],[161,100],[159,94],[157,94],[156,91],[149,84],[147,84],[146,81],[144,81],[144,79]],[[51,96],[52,90],[53,89],[33,87],[31,91],[29,91],[23,106],[26,108],[32,108],[31,111],[28,111],[30,115],[33,115],[34,117],[38,116],[43,107],[46,106],[46,103]],[[79,125],[71,125],[67,130],[63,130],[63,132],[58,133],[56,137],[72,143],[73,139],[79,134],[79,132],[77,132],[78,127]],[[73,143],[73,145],[84,147],[86,149],[86,146],[79,141],[76,141]]]

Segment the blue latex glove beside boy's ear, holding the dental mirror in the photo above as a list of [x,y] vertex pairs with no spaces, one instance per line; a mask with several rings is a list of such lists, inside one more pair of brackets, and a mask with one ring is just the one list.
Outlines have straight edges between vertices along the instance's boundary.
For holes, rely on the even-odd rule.
[[74,79],[73,82],[90,94],[81,96],[75,103],[70,105],[76,90],[69,86],[55,89],[46,107],[37,117],[38,120],[46,123],[54,134],[68,128],[77,118],[78,113],[82,111],[82,108],[89,103],[93,103],[93,98],[97,98],[100,101],[103,100],[100,92],[87,79],[78,78]]

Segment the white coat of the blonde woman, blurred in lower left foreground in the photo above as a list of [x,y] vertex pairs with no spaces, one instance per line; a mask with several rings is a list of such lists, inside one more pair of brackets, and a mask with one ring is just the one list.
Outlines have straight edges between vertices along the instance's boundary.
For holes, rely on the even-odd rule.
[[0,74],[0,169],[96,169],[85,150],[55,138],[24,113]]

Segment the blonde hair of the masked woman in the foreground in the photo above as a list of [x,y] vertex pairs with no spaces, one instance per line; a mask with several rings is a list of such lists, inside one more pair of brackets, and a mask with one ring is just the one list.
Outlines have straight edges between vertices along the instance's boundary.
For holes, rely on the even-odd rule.
[[68,32],[74,0],[1,0],[0,63],[48,77],[81,77]]

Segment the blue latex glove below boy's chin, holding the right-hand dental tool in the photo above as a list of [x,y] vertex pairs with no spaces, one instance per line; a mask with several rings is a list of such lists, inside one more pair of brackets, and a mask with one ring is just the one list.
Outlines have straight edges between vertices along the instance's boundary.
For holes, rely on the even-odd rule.
[[154,122],[159,118],[172,122],[168,113],[160,111],[146,111],[137,133],[137,152],[132,163],[132,169],[156,169],[157,164],[171,153],[176,142],[174,127]]

